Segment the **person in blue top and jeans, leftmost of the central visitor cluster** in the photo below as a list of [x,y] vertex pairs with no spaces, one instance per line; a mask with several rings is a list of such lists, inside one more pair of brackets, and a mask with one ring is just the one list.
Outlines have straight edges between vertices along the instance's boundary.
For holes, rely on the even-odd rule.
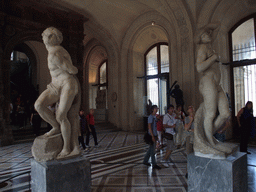
[[144,157],[143,164],[147,166],[151,166],[151,164],[148,162],[149,158],[151,157],[151,163],[153,166],[153,169],[161,169],[156,164],[155,159],[155,148],[156,148],[156,138],[157,138],[157,127],[156,127],[156,113],[157,113],[158,107],[156,105],[153,105],[151,107],[151,114],[148,117],[148,134],[152,138],[152,142],[149,143],[148,151]]

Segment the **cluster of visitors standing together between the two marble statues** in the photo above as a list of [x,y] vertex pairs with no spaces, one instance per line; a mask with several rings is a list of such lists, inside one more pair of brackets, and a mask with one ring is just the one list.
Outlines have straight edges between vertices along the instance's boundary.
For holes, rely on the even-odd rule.
[[188,116],[182,111],[182,106],[177,105],[176,110],[173,105],[167,108],[167,114],[164,116],[157,115],[158,107],[151,107],[151,114],[148,117],[148,131],[144,136],[146,143],[149,144],[149,149],[144,157],[143,164],[151,166],[148,162],[151,157],[152,167],[161,169],[156,164],[155,149],[163,148],[163,137],[166,138],[166,154],[161,160],[165,167],[169,167],[170,155],[173,150],[180,148],[186,143],[187,154],[192,152],[193,132],[194,132],[194,108],[188,107]]

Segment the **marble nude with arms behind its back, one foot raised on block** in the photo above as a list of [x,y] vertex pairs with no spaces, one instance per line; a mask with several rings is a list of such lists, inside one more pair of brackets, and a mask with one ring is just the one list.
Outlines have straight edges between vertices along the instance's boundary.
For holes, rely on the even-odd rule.
[[[46,137],[62,134],[64,145],[58,158],[63,158],[73,150],[79,150],[77,141],[74,140],[75,136],[72,137],[72,132],[76,135],[77,130],[72,130],[75,128],[71,128],[68,119],[68,112],[72,109],[74,99],[79,92],[79,82],[74,76],[78,70],[73,66],[69,53],[60,46],[63,36],[58,29],[47,28],[42,33],[42,38],[48,51],[48,68],[52,81],[37,99],[35,109],[53,127],[45,134]],[[59,105],[54,114],[48,106],[57,102]]]

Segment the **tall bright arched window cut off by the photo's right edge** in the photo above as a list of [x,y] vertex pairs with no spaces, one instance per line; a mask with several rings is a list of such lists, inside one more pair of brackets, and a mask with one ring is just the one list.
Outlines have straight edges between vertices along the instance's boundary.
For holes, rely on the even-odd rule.
[[235,115],[247,101],[256,103],[255,23],[256,14],[243,19],[230,31],[232,103]]

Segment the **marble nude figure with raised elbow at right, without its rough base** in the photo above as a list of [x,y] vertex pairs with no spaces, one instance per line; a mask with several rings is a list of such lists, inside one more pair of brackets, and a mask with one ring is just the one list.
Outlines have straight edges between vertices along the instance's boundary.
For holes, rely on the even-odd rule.
[[[212,49],[213,31],[217,27],[219,27],[217,23],[209,24],[198,33],[197,39],[195,39],[198,44],[196,69],[202,74],[199,82],[199,91],[203,95],[206,112],[203,126],[205,136],[212,146],[216,144],[213,134],[230,116],[228,100],[220,85],[219,56]],[[219,115],[216,118],[217,111]],[[230,149],[223,146],[219,149],[230,152]]]

